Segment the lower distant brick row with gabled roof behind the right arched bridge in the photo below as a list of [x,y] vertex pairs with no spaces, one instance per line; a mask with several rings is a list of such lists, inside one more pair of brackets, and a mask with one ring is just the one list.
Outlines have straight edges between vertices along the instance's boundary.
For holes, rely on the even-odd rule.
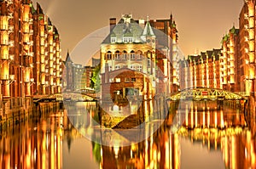
[[180,60],[180,89],[190,87],[220,88],[220,49],[202,52],[200,55],[189,55]]

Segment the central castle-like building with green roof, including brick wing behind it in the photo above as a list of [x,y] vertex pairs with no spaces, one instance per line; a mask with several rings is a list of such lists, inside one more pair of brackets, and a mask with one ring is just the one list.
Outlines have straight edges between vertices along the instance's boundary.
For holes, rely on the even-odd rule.
[[[115,18],[110,19],[110,34],[101,46],[102,97],[111,96],[113,99],[116,98],[114,94],[118,94],[124,99],[130,91],[143,95],[143,99],[152,99],[155,94],[171,93],[177,88],[173,87],[178,85],[173,82],[177,79],[172,76],[172,68],[175,65],[172,58],[177,57],[176,33],[172,16],[169,20],[145,21],[133,20],[131,14],[125,14],[118,24]],[[144,77],[128,77],[133,82],[129,81],[127,76],[113,78],[116,72],[121,73],[122,70],[125,71],[124,75],[130,71],[131,75]],[[132,70],[140,73],[134,74]],[[131,92],[131,87],[138,79],[144,79],[141,87],[137,87],[138,92]],[[122,89],[121,82],[125,82]],[[129,82],[131,87],[128,85]],[[120,96],[117,97],[120,99]]]

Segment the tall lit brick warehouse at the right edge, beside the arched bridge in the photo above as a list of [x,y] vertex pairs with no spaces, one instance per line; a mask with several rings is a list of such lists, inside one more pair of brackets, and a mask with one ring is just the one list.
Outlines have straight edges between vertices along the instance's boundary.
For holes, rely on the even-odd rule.
[[[254,95],[256,91],[255,84],[255,0],[247,0],[241,8],[239,16],[239,29],[233,26],[230,31],[222,38],[221,54],[219,56],[220,85],[214,86],[232,92],[245,92],[247,95]],[[180,72],[186,71],[187,65],[180,62]],[[208,65],[203,65],[207,67]],[[192,68],[189,68],[192,69]],[[207,71],[201,71],[201,76],[211,79],[205,74]],[[183,74],[182,74],[183,75]],[[182,77],[182,75],[180,75]],[[198,78],[191,75],[193,79]],[[183,81],[183,80],[181,80]],[[218,82],[218,80],[214,80]],[[204,86],[194,82],[193,87]]]

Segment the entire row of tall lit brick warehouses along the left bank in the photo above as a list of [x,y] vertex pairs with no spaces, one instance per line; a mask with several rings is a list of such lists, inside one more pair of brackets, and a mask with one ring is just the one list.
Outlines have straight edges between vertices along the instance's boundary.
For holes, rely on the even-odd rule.
[[30,0],[3,0],[0,8],[0,99],[4,108],[22,107],[24,100],[36,95],[60,93],[62,61],[55,25]]

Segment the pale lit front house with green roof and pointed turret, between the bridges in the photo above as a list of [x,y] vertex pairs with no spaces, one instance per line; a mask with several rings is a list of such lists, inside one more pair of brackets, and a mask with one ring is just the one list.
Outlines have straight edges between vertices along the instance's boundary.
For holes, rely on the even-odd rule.
[[129,94],[152,99],[156,88],[155,35],[149,21],[143,28],[125,14],[110,29],[101,45],[102,99],[125,99]]

